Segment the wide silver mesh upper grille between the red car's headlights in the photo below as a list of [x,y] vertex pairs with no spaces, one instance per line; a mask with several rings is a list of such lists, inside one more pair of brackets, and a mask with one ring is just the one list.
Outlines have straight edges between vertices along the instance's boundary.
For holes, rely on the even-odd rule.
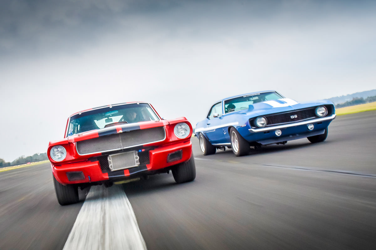
[[108,152],[122,148],[130,148],[165,139],[164,127],[138,129],[115,135],[100,136],[98,138],[79,141],[76,143],[80,155]]

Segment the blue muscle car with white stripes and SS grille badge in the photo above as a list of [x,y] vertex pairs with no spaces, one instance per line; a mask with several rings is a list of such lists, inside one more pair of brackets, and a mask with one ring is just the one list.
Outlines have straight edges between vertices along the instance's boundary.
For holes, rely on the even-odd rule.
[[204,155],[229,147],[236,156],[243,156],[251,146],[300,138],[322,142],[334,118],[334,105],[328,100],[299,103],[276,91],[262,91],[216,102],[194,133]]

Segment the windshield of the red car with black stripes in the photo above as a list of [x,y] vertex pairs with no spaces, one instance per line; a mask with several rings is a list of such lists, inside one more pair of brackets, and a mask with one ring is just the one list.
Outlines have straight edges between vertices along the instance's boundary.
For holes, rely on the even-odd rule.
[[147,103],[132,103],[93,109],[70,118],[67,136],[116,124],[158,121],[159,118]]

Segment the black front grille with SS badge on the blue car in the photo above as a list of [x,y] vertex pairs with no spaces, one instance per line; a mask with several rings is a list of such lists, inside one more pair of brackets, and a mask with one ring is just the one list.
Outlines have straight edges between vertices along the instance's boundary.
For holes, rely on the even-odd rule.
[[291,121],[300,121],[305,120],[308,118],[314,118],[315,115],[315,108],[312,109],[303,109],[292,111],[284,114],[276,114],[276,115],[265,115],[267,119],[268,125],[280,124],[280,123],[289,123]]

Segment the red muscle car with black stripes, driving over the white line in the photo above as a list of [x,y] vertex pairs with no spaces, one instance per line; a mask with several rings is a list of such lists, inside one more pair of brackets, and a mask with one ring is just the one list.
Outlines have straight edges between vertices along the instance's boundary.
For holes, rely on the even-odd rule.
[[79,201],[78,187],[169,173],[177,183],[193,181],[192,125],[185,117],[164,120],[145,102],[120,103],[71,115],[64,139],[51,141],[56,197]]

